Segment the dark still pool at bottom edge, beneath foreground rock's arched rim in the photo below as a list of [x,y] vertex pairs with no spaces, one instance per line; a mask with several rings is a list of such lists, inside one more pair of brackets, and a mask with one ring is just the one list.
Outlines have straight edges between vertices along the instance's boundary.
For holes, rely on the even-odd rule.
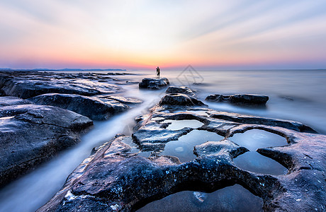
[[178,192],[153,201],[138,211],[263,211],[263,201],[235,184],[212,193]]

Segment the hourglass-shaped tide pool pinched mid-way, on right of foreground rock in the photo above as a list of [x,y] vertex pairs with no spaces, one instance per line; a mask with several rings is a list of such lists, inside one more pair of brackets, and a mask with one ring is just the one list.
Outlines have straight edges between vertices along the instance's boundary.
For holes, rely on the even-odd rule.
[[252,129],[243,134],[235,134],[230,140],[249,149],[249,152],[233,159],[240,169],[267,175],[285,175],[288,171],[280,163],[256,151],[257,148],[286,146],[288,143],[282,136],[261,129]]

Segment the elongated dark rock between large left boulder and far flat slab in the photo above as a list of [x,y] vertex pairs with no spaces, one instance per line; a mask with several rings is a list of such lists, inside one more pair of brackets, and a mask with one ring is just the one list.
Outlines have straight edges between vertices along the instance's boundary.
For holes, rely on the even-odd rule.
[[76,94],[47,93],[29,98],[38,105],[52,105],[71,110],[94,120],[105,120],[113,114],[123,112],[129,107],[116,100],[105,101],[96,97],[86,97]]

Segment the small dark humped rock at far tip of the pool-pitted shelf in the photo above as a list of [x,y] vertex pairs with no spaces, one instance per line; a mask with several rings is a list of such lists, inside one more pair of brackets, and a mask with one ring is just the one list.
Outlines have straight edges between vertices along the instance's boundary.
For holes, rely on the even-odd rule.
[[203,106],[205,105],[201,100],[190,97],[182,93],[171,93],[164,95],[159,105],[182,105],[182,106]]

